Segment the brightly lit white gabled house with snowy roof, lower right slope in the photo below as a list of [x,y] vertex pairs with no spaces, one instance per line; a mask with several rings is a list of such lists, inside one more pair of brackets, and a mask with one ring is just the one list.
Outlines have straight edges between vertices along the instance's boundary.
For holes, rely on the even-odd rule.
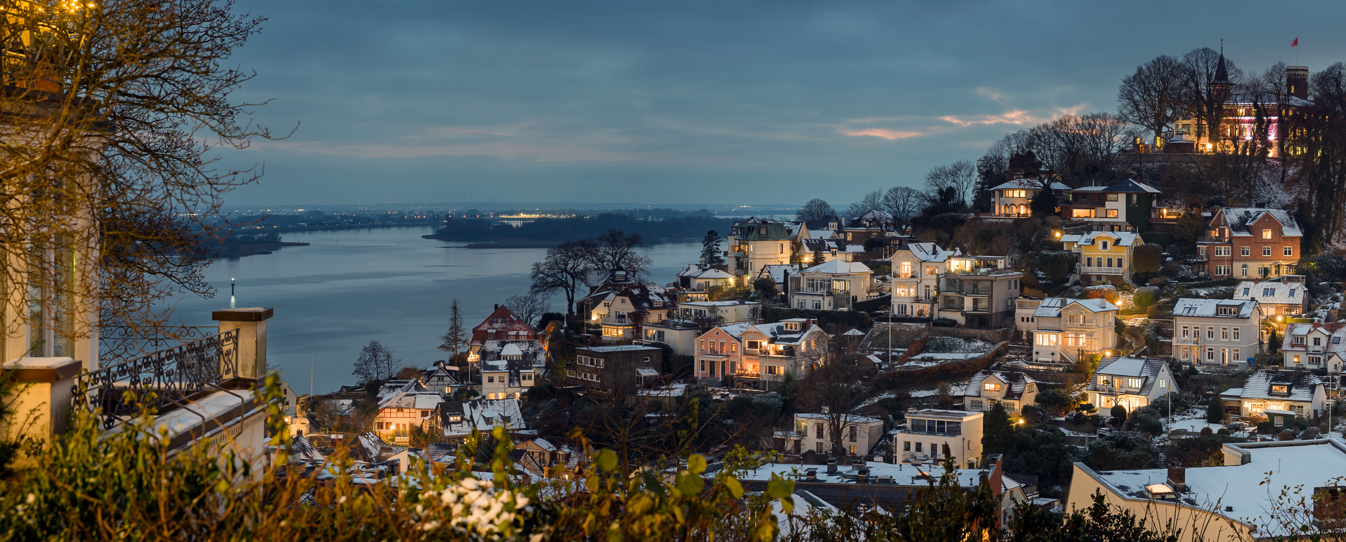
[[1172,373],[1163,359],[1108,356],[1098,362],[1085,389],[1098,410],[1121,405],[1131,412],[1176,391],[1172,386]]

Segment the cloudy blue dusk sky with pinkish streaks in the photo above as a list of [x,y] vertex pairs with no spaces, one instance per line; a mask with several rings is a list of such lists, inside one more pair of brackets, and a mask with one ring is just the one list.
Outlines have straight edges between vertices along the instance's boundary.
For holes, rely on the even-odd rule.
[[[1346,61],[1346,3],[237,0],[283,140],[229,204],[837,206],[1116,109],[1160,54]],[[1295,15],[1291,17],[1289,15]]]

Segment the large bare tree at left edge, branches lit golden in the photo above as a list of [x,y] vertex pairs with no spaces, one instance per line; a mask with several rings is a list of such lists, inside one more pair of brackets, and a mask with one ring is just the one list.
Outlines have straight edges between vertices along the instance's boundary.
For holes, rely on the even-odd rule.
[[[221,167],[248,147],[260,104],[232,100],[253,73],[230,56],[262,17],[230,3],[7,3],[0,36],[4,171],[0,260],[11,321],[87,338],[105,324],[159,327],[155,301],[210,296],[197,234],[223,194],[260,171]],[[36,299],[20,299],[28,292]],[[100,303],[71,311],[65,300]]]

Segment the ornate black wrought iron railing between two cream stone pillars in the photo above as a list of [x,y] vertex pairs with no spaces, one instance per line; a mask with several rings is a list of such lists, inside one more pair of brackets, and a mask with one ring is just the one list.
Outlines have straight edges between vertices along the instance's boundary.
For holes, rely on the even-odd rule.
[[97,410],[104,429],[110,429],[144,409],[183,406],[237,375],[238,330],[230,330],[85,373],[75,378],[70,403]]

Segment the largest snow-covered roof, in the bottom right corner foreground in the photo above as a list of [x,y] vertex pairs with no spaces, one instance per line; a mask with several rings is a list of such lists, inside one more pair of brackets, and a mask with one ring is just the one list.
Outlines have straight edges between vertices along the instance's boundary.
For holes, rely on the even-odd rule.
[[[1184,483],[1189,490],[1180,494],[1182,503],[1257,526],[1259,538],[1289,537],[1289,530],[1296,529],[1292,522],[1267,520],[1268,510],[1280,506],[1272,499],[1283,492],[1295,495],[1299,491],[1304,491],[1303,496],[1310,499],[1307,492],[1312,488],[1333,486],[1330,481],[1346,472],[1346,449],[1326,438],[1232,442],[1225,444],[1225,451],[1244,453],[1248,459],[1241,465],[1186,469]],[[1168,479],[1168,471],[1163,468],[1086,472],[1116,494],[1140,500],[1149,500],[1147,486],[1162,484]]]

